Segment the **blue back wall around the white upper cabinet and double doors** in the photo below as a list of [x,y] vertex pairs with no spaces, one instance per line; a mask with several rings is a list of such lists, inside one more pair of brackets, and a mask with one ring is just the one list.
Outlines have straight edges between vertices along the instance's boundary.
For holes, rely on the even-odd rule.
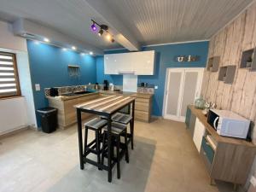
[[[146,82],[148,84],[158,85],[158,89],[154,90],[153,114],[162,115],[162,107],[164,100],[164,90],[166,81],[167,67],[206,67],[208,42],[196,42],[187,44],[168,44],[160,46],[143,47],[143,50],[155,50],[155,72],[154,75],[138,76],[138,83]],[[105,54],[124,53],[127,49],[108,50]],[[177,55],[199,55],[199,61],[195,62],[177,62],[174,57]],[[103,57],[96,58],[97,80],[104,76]],[[100,70],[98,70],[100,68]],[[113,78],[115,75],[108,75],[110,82],[113,84],[122,84],[122,77]]]

